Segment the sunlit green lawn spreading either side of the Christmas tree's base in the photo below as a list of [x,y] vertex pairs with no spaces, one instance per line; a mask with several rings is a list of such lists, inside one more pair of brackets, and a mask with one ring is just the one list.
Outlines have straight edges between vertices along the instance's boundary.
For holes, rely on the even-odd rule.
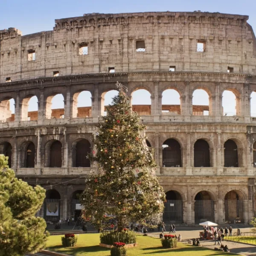
[[[229,253],[215,252],[204,247],[193,247],[178,243],[178,248],[163,249],[160,239],[138,236],[138,246],[128,248],[127,256],[230,256]],[[78,236],[76,247],[62,248],[61,236],[50,236],[47,243],[47,250],[66,253],[73,256],[109,256],[110,249],[99,247],[99,234],[82,234]]]

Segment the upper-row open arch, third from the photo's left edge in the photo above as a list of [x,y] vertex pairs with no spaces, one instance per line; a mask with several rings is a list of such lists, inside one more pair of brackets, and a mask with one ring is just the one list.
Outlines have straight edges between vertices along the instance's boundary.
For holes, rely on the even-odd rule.
[[64,97],[62,94],[49,96],[46,101],[46,118],[64,118]]

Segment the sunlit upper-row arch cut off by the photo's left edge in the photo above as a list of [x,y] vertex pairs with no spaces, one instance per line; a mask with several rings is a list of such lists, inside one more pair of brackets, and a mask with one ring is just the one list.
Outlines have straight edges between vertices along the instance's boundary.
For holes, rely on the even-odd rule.
[[0,102],[0,122],[13,122],[15,120],[15,100],[7,97]]

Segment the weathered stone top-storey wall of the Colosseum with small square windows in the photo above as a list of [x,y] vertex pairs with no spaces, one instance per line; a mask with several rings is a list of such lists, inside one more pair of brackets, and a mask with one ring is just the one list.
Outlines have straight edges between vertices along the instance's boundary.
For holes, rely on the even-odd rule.
[[[246,15],[208,12],[91,14],[55,20],[53,31],[21,36],[0,31],[0,81],[84,73],[176,71],[256,72],[255,36]],[[145,41],[145,52],[136,52]],[[205,44],[197,52],[197,42]],[[88,46],[79,55],[79,45]],[[35,60],[28,52],[35,51]]]

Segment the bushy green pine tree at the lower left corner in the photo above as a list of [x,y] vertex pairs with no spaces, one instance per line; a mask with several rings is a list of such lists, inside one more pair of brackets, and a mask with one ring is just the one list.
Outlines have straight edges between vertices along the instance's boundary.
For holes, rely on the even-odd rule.
[[8,157],[0,155],[0,256],[18,256],[41,250],[46,243],[46,222],[35,217],[45,190],[15,177]]

